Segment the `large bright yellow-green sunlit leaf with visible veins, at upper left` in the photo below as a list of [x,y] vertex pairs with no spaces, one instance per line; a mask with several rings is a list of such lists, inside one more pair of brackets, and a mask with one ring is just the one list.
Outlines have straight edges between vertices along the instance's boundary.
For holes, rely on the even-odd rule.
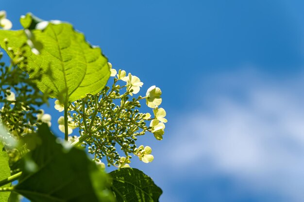
[[[25,28],[33,28],[35,23],[32,21],[35,19],[28,14],[22,18],[21,23]],[[42,23],[47,25],[45,29],[31,31],[35,41],[41,43],[43,48],[36,55],[29,46],[25,46],[28,64],[20,67],[30,77],[42,74],[42,79],[37,81],[38,88],[63,103],[83,98],[88,93],[100,92],[110,77],[107,59],[102,55],[101,49],[90,46],[85,41],[84,34],[75,31],[71,24],[58,21]],[[4,39],[8,40],[8,44]],[[13,54],[9,49],[16,50],[27,39],[23,30],[0,30],[0,46],[10,57]]]

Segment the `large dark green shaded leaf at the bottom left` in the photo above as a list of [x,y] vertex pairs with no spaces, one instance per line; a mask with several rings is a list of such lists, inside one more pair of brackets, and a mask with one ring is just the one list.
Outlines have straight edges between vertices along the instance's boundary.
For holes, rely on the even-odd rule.
[[83,150],[56,142],[47,124],[38,129],[41,144],[26,155],[14,191],[32,202],[111,202],[109,178]]

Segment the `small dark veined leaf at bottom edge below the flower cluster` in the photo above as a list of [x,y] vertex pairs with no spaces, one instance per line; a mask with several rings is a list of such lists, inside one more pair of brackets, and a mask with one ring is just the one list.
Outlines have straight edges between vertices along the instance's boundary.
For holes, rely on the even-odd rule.
[[138,169],[122,168],[110,172],[117,202],[158,202],[163,191]]

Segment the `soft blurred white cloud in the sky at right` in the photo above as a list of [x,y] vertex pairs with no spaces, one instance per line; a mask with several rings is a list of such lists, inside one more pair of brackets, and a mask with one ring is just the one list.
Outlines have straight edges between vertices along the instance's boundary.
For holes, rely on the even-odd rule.
[[203,179],[200,171],[209,169],[254,191],[303,201],[304,77],[289,78],[244,71],[204,82],[206,102],[171,120],[170,140],[155,156],[162,166],[170,159],[175,175],[189,177],[190,166]]

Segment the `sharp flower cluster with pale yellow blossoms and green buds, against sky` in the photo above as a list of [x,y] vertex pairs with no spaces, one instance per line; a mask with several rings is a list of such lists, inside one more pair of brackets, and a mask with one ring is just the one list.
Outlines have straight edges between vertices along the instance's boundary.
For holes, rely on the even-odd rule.
[[[79,137],[72,144],[81,144],[94,155],[94,161],[101,163],[105,158],[108,166],[130,167],[132,155],[145,163],[152,162],[152,149],[149,146],[136,147],[135,141],[146,132],[151,132],[157,140],[162,140],[166,111],[158,108],[162,102],[161,90],[152,86],[146,96],[134,97],[139,93],[143,82],[124,70],[117,71],[109,63],[111,77],[115,77],[110,87],[106,86],[96,95],[88,94],[85,98],[73,102],[68,111],[68,133],[78,127]],[[121,82],[122,85],[118,84]],[[153,109],[150,113],[141,113],[140,101],[146,100]],[[55,109],[63,111],[64,106],[55,101]],[[64,132],[64,119],[58,120],[59,129]],[[119,152],[117,146],[120,147]],[[123,154],[123,155],[122,155]],[[103,161],[103,160],[102,160]]]

